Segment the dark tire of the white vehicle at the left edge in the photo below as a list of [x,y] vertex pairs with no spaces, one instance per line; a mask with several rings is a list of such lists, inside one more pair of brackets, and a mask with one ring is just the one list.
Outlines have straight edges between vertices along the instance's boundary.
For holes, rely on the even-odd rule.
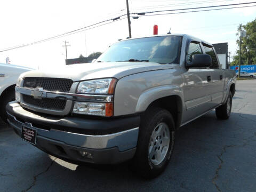
[[7,113],[5,106],[7,103],[15,100],[15,91],[13,89],[7,90],[3,93],[0,101],[0,117],[2,120],[7,123]]

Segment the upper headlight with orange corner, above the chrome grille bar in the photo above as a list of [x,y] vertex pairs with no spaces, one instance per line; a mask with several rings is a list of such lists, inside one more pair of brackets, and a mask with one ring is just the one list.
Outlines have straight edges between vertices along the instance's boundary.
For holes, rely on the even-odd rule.
[[116,82],[117,80],[115,78],[80,82],[77,87],[77,93],[113,94]]

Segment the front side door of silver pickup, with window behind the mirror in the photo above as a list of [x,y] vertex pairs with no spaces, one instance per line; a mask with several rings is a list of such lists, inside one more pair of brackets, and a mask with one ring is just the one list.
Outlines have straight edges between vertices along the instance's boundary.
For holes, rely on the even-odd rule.
[[[187,45],[186,60],[191,62],[192,55],[202,54],[200,42],[191,41]],[[183,93],[186,105],[184,122],[211,109],[211,70],[209,68],[188,68],[184,73]]]

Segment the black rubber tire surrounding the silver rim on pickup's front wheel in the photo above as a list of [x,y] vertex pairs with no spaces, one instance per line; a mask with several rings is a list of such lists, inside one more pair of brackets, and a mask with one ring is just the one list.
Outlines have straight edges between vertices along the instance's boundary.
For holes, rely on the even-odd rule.
[[[159,125],[160,123],[165,124],[166,131],[167,131],[167,128],[169,128],[170,141],[166,142],[169,144],[166,145],[168,146],[168,148],[166,147],[167,149],[165,148],[164,150],[164,151],[167,151],[167,153],[164,152],[166,153],[166,155],[162,156],[162,158],[164,157],[163,160],[161,161],[161,163],[155,165],[151,162],[149,158],[149,147],[150,147],[149,143],[151,140],[151,134],[153,133],[153,131],[156,130],[156,126]],[[157,133],[157,134],[160,134],[160,133]],[[166,135],[163,136],[163,138],[166,137]],[[153,179],[157,177],[159,174],[161,174],[165,170],[166,166],[170,161],[173,147],[174,147],[174,135],[175,135],[174,121],[169,111],[162,108],[156,108],[156,107],[148,109],[145,115],[143,115],[141,118],[141,126],[140,126],[137,150],[133,158],[133,166],[135,168],[135,171],[139,172],[139,174],[142,175],[142,177],[145,177],[148,179]],[[159,138],[158,143],[161,142],[161,145],[162,145],[161,136],[159,136],[158,138]],[[154,141],[151,140],[151,142],[154,142]],[[155,148],[155,146],[153,146],[153,148]],[[164,147],[161,147],[161,148],[162,149],[158,148],[158,150],[159,151],[161,150],[161,153],[162,153]]]

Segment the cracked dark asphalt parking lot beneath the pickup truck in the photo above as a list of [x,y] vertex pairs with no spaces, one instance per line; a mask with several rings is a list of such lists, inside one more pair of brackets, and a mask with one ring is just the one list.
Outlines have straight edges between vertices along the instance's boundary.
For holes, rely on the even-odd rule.
[[256,191],[256,80],[238,81],[231,117],[212,111],[181,127],[154,180],[127,164],[82,166],[49,156],[0,122],[0,191]]

